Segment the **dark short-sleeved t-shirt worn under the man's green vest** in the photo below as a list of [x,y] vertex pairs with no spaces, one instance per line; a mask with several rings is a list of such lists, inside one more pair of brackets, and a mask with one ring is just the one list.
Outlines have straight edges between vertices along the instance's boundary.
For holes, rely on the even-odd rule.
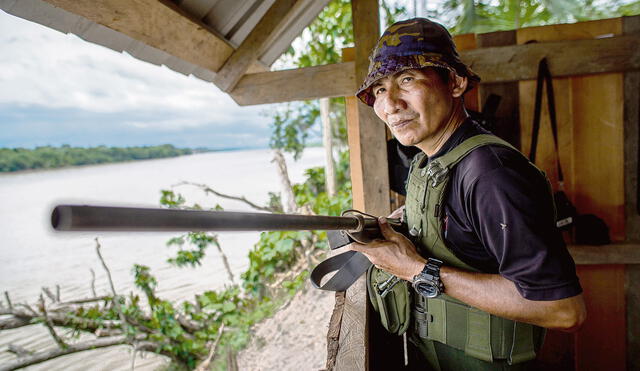
[[[487,132],[465,121],[431,159],[478,134]],[[513,281],[526,299],[557,300],[582,292],[555,227],[547,181],[522,154],[483,146],[462,159],[450,177],[444,237],[458,258]]]

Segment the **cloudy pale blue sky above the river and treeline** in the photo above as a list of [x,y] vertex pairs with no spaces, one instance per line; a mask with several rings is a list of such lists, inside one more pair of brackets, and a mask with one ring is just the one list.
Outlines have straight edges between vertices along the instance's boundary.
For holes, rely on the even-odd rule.
[[271,109],[0,10],[0,147],[265,148]]

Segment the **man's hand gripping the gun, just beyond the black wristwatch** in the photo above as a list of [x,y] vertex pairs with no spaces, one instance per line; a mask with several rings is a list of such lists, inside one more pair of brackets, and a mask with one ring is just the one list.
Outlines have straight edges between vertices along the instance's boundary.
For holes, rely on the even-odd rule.
[[416,247],[408,238],[389,226],[387,218],[379,218],[378,224],[384,240],[376,240],[368,244],[354,242],[349,249],[360,251],[376,267],[411,282],[413,277],[424,268],[426,259],[418,254]]

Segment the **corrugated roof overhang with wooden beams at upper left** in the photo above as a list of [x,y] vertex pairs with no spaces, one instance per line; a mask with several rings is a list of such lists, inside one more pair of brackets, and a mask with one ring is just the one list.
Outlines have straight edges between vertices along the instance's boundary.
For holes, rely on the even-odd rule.
[[329,0],[0,0],[0,9],[230,92],[265,72]]

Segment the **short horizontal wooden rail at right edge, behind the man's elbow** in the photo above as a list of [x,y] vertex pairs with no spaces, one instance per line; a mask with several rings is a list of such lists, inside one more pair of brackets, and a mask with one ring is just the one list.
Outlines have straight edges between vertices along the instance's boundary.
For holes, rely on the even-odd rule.
[[569,245],[576,264],[640,264],[640,244],[622,243],[603,246]]

